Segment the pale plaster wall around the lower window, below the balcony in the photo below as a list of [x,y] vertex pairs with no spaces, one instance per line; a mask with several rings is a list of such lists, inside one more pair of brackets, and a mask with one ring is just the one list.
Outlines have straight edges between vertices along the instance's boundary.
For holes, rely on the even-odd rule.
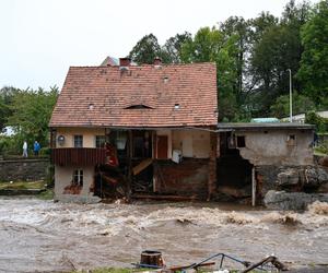
[[90,188],[93,185],[94,179],[94,167],[72,167],[66,166],[60,167],[58,165],[55,166],[55,199],[60,200],[63,194],[63,190],[67,186],[71,185],[73,178],[73,171],[75,169],[83,169],[83,188],[81,190],[80,195],[93,195],[93,192],[90,192]]

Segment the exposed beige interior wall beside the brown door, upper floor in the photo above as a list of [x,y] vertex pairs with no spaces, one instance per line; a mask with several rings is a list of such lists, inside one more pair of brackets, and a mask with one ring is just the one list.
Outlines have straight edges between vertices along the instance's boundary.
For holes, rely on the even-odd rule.
[[211,152],[210,132],[201,130],[173,130],[173,150],[183,152],[184,157],[209,158]]

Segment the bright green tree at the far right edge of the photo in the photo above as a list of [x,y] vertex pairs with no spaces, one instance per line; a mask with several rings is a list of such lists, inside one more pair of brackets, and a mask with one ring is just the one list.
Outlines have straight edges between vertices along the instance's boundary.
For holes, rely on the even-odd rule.
[[[304,52],[297,79],[317,104],[328,94],[328,1],[320,1],[301,32]],[[328,106],[328,105],[327,105]]]

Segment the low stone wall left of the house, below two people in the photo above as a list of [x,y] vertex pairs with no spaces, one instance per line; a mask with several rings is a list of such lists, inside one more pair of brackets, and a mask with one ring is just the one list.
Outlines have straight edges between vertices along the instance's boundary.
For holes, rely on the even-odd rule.
[[48,158],[0,161],[0,181],[32,181],[47,178]]

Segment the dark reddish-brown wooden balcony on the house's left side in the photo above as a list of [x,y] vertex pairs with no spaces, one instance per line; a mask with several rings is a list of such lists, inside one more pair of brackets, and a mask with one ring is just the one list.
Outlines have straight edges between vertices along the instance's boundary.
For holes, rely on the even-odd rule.
[[106,150],[97,147],[51,149],[51,163],[59,166],[90,166],[105,164]]

